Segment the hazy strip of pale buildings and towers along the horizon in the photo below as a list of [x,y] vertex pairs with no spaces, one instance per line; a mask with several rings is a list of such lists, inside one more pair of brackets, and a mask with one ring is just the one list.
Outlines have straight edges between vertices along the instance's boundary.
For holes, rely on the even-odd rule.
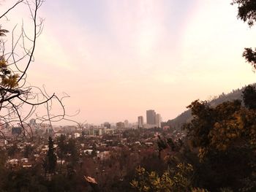
[[[72,137],[78,138],[83,134],[84,136],[102,136],[103,134],[115,134],[116,131],[126,130],[129,128],[161,128],[162,117],[155,110],[146,110],[146,122],[143,115],[138,116],[138,122],[130,123],[128,120],[117,123],[105,122],[100,125],[94,125],[93,123],[83,123],[77,126],[52,126],[50,123],[37,123],[37,120],[32,118],[29,123],[24,124],[23,128],[27,131],[25,134],[37,134],[37,136],[49,135],[59,137],[64,133],[73,133]],[[12,139],[20,134],[23,134],[23,128],[21,126],[11,126],[10,124],[3,124],[0,126],[2,134],[5,137]],[[170,127],[165,127],[170,128]],[[75,132],[77,131],[77,132]],[[82,133],[83,131],[83,133]],[[1,142],[6,142],[7,139],[1,139]],[[6,144],[5,143],[5,144]]]

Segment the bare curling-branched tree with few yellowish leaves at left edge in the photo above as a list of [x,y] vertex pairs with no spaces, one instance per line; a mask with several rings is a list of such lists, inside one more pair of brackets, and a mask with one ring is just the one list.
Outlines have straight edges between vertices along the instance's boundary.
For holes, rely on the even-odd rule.
[[[49,95],[45,88],[27,82],[29,66],[35,61],[37,39],[42,32],[43,19],[38,16],[42,3],[43,0],[18,0],[0,15],[0,23],[4,23],[4,20],[11,23],[8,19],[10,12],[14,12],[18,6],[29,8],[31,23],[28,24],[31,24],[32,29],[25,28],[21,19],[20,25],[15,23],[8,35],[9,30],[0,25],[0,126],[20,126],[21,135],[28,138],[33,137],[29,118],[34,115],[37,123],[48,122],[50,125],[65,119],[62,99],[68,97],[65,95],[59,98],[54,93]],[[54,115],[50,110],[56,104],[62,107],[62,112]],[[45,107],[45,114],[37,114],[39,106]],[[8,139],[2,131],[1,137]]]

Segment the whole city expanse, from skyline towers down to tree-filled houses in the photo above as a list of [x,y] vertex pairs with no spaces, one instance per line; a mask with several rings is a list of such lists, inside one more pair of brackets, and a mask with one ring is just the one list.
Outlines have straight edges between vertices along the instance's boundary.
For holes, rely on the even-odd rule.
[[[28,123],[23,123],[23,127],[4,124],[0,127],[4,136],[0,137],[0,155],[6,154],[2,155],[4,169],[10,172],[37,169],[37,174],[31,178],[41,178],[43,183],[54,181],[56,175],[66,178],[65,175],[71,172],[75,175],[74,180],[67,177],[65,182],[74,181],[72,185],[83,188],[83,191],[93,191],[91,180],[95,180],[100,191],[103,188],[122,191],[131,181],[127,176],[133,175],[138,165],[162,162],[158,150],[159,139],[164,139],[162,135],[174,141],[185,137],[182,131],[161,126],[161,115],[154,110],[146,110],[145,119],[144,122],[140,115],[135,123],[124,120],[100,125],[52,126],[31,118]],[[55,157],[53,172],[45,164],[49,162],[49,151]],[[75,178],[81,183],[75,183]],[[120,183],[120,186],[113,187],[114,183]]]

